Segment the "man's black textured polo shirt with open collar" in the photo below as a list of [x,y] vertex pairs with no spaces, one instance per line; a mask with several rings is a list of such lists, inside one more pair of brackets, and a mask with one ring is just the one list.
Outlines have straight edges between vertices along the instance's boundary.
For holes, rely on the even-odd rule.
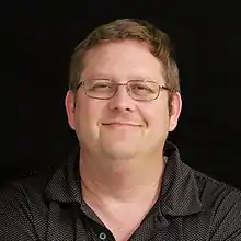
[[[160,197],[129,240],[241,241],[241,192],[183,163],[174,145],[164,152]],[[1,190],[0,240],[115,240],[81,198],[78,160]]]

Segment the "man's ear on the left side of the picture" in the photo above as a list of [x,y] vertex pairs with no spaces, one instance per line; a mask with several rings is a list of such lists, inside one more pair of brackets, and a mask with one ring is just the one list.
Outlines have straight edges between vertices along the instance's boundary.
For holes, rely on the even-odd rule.
[[70,127],[74,130],[76,129],[76,104],[74,104],[74,93],[72,91],[68,91],[66,94],[66,113],[68,117],[68,123]]

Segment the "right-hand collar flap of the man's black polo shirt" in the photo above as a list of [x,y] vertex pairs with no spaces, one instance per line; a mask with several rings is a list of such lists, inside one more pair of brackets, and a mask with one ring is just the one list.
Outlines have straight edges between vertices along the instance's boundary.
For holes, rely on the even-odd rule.
[[183,163],[177,147],[165,144],[168,157],[159,204],[163,216],[186,216],[203,210],[195,171]]

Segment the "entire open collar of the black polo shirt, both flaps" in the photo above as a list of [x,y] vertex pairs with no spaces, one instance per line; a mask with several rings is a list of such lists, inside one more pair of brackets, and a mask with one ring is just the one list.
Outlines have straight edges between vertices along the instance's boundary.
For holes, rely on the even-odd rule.
[[[180,159],[177,147],[167,141],[168,157],[163,183],[159,197],[159,210],[163,216],[186,216],[202,211],[199,190],[194,171]],[[45,188],[47,200],[81,203],[79,176],[79,151],[74,152],[64,167],[53,175]]]

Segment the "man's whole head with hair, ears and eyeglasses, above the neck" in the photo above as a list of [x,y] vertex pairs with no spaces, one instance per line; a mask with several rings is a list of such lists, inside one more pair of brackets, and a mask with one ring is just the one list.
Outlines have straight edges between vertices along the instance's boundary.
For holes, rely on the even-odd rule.
[[169,37],[151,24],[117,20],[76,48],[66,107],[85,150],[116,159],[161,151],[181,106]]

